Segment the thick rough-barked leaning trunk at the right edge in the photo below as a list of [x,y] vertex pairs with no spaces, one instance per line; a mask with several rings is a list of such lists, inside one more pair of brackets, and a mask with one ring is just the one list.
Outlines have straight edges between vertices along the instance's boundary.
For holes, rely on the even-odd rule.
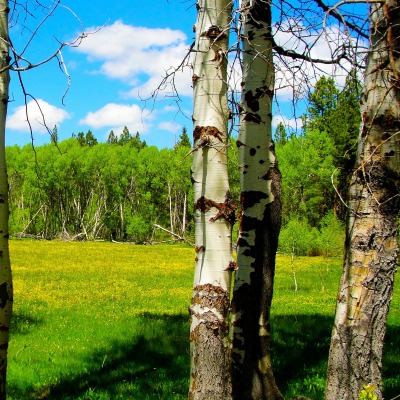
[[398,258],[400,210],[400,2],[372,3],[350,182],[344,268],[328,363],[326,400],[358,399],[365,384],[382,398],[382,349]]

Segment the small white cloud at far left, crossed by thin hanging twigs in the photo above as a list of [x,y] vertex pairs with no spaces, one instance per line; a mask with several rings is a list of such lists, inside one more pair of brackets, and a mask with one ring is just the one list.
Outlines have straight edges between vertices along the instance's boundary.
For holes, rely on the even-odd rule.
[[7,117],[7,127],[27,132],[29,131],[27,119],[29,119],[32,131],[43,134],[48,132],[45,125],[53,129],[55,125],[59,127],[63,121],[69,118],[70,115],[62,108],[53,106],[42,99],[37,99],[36,101],[31,100],[27,104],[27,108],[20,106],[11,110],[11,114]]

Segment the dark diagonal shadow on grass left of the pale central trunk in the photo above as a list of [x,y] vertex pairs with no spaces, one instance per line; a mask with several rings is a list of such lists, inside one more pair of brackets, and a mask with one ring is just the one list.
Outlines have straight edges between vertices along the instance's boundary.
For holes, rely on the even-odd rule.
[[[10,387],[16,399],[183,399],[189,378],[188,316],[140,317],[147,334],[89,355],[74,376],[40,388]],[[145,337],[146,336],[146,337]]]

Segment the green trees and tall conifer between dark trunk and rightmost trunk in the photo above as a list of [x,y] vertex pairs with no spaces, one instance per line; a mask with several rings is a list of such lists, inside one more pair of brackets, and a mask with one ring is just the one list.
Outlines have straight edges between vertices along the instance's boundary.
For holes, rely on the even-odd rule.
[[[360,126],[360,84],[351,72],[343,90],[322,77],[309,95],[304,134],[287,137],[283,124],[275,133],[282,173],[283,229],[280,250],[296,254],[342,252],[349,172]],[[333,218],[335,215],[335,218]],[[293,247],[294,244],[294,247]]]

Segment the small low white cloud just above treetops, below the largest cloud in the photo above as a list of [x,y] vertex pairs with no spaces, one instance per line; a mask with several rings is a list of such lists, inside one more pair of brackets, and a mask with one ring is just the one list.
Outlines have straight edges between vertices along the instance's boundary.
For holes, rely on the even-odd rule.
[[116,133],[122,131],[124,126],[131,133],[137,131],[145,133],[149,128],[147,121],[151,121],[152,118],[152,114],[149,114],[148,111],[141,109],[136,104],[109,103],[97,111],[89,112],[79,123],[81,125],[88,125],[94,129],[110,128]]

